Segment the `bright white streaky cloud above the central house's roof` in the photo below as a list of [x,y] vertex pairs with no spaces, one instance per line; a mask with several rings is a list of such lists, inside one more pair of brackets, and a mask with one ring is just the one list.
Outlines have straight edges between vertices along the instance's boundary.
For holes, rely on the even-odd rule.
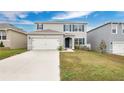
[[60,13],[57,14],[56,16],[54,16],[52,19],[72,19],[72,18],[79,18],[82,16],[88,16],[92,13],[92,11],[87,11],[87,12],[83,12],[83,11],[75,11],[75,12],[64,12],[64,13]]

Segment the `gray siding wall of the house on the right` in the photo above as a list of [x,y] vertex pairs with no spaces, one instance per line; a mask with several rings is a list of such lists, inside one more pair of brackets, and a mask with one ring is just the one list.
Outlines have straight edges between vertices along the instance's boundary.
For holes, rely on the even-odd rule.
[[101,40],[104,40],[107,45],[107,52],[112,52],[112,44],[114,41],[124,41],[124,34],[122,33],[122,24],[117,25],[117,34],[112,34],[113,24],[109,23],[98,27],[87,34],[88,43],[91,44],[92,50],[97,50]]

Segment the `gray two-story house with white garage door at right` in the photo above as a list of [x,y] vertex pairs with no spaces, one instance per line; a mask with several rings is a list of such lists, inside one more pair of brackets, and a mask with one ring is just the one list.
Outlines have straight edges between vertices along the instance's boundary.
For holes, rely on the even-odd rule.
[[108,53],[124,54],[124,23],[109,22],[88,31],[87,35],[91,49],[97,50],[104,40]]

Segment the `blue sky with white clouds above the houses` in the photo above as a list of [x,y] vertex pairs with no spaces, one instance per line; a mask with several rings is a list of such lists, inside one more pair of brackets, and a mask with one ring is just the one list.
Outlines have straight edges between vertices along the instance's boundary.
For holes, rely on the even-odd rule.
[[0,23],[11,23],[27,32],[36,30],[35,22],[87,22],[88,30],[106,22],[124,22],[122,11],[1,11]]

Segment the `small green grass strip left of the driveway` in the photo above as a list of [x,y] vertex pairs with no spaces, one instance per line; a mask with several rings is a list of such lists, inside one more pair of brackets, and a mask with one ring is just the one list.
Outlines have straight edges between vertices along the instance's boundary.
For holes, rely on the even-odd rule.
[[16,54],[20,54],[25,52],[26,49],[8,49],[8,50],[0,50],[0,59],[4,59]]

